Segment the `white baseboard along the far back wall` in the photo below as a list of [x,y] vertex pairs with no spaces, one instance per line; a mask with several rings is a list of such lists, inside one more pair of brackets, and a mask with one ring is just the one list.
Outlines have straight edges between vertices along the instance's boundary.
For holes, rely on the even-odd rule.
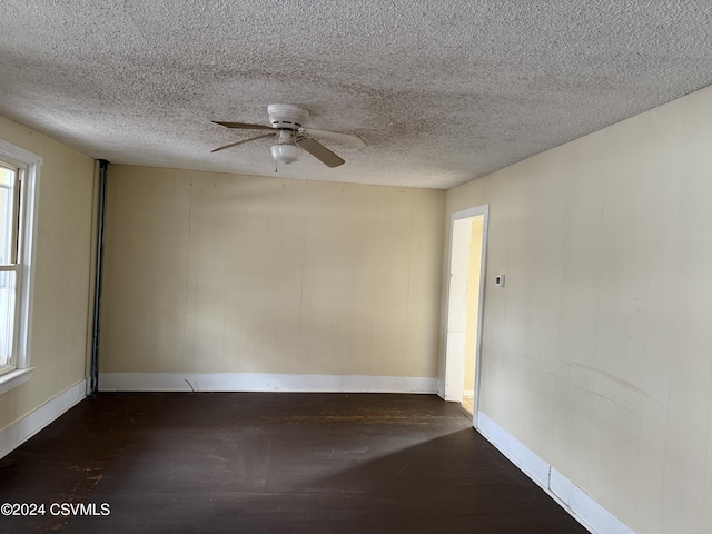
[[432,394],[437,392],[437,378],[269,373],[100,373],[99,390]]

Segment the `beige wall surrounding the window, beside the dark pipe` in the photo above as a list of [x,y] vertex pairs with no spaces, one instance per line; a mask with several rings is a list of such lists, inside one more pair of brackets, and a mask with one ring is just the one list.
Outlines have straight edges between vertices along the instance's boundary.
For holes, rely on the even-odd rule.
[[44,160],[40,175],[29,382],[0,395],[0,429],[85,379],[95,161],[0,117],[0,139]]

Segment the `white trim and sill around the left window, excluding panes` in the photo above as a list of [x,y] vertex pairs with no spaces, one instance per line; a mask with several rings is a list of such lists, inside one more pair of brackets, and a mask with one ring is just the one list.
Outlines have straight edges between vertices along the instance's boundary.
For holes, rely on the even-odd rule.
[[20,247],[20,290],[21,303],[18,320],[17,367],[0,375],[0,395],[26,383],[34,367],[30,365],[30,330],[32,318],[34,248],[37,243],[38,202],[40,192],[40,169],[44,162],[41,156],[30,152],[0,139],[0,158],[21,161],[27,166],[22,195],[22,247]]

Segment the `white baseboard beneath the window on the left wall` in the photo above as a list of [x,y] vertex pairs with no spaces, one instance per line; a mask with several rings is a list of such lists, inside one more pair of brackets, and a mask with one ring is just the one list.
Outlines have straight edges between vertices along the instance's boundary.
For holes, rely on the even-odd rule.
[[87,396],[88,382],[81,380],[34,412],[0,431],[0,458],[22,445],[57,417]]

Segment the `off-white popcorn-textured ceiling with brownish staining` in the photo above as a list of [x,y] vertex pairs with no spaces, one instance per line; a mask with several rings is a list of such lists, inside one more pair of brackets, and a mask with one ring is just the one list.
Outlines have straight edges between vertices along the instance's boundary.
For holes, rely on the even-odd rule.
[[274,176],[267,123],[324,142],[279,175],[448,188],[712,82],[712,2],[3,0],[0,115],[95,158]]

